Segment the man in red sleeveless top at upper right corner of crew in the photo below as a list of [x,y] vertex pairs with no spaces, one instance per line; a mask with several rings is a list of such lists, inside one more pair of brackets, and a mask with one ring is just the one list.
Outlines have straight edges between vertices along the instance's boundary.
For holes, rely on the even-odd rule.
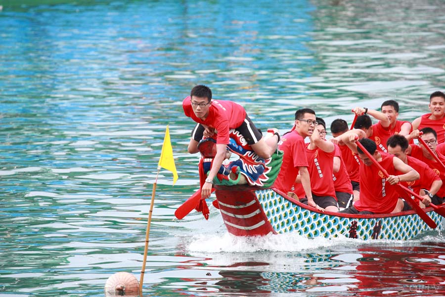
[[428,108],[431,112],[416,118],[412,130],[430,127],[436,131],[437,143],[442,144],[445,142],[445,94],[441,91],[432,93]]

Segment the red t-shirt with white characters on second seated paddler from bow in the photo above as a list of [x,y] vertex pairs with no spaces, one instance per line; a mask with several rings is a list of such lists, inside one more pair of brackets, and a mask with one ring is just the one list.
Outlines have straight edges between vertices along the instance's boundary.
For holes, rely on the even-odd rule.
[[[307,146],[309,144],[306,144]],[[325,152],[320,148],[309,149],[306,146],[306,155],[309,163],[309,176],[311,177],[311,191],[316,196],[335,196],[334,181],[334,151]],[[337,198],[336,198],[337,199]]]

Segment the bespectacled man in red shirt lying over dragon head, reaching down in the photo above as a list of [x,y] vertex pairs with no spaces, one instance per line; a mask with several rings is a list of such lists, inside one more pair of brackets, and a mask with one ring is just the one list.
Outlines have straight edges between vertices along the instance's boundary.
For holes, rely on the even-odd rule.
[[277,148],[278,132],[274,133],[274,137],[263,138],[263,134],[247,116],[243,106],[233,101],[212,100],[212,91],[206,86],[195,86],[190,96],[182,101],[182,108],[185,115],[197,123],[188,144],[189,153],[199,151],[198,144],[203,137],[212,137],[216,134],[216,155],[201,189],[202,198],[210,196],[213,179],[223,164],[229,144],[230,129],[235,129],[244,136],[247,144],[261,158],[270,158]]

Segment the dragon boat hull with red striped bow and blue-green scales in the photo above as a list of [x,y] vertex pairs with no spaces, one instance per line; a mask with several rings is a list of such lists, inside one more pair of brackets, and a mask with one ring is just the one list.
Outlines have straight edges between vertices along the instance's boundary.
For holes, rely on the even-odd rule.
[[[215,193],[225,226],[236,236],[295,232],[309,238],[408,240],[433,230],[414,211],[383,215],[320,212],[278,190],[249,186],[216,186]],[[441,230],[443,217],[432,208],[426,211]]]

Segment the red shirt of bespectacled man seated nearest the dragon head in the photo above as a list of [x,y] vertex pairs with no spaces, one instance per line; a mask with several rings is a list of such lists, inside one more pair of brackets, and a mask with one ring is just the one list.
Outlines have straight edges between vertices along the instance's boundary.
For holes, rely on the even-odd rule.
[[287,193],[295,183],[298,167],[308,167],[305,141],[296,130],[293,130],[281,137],[279,149],[284,152],[283,163],[273,187]]

